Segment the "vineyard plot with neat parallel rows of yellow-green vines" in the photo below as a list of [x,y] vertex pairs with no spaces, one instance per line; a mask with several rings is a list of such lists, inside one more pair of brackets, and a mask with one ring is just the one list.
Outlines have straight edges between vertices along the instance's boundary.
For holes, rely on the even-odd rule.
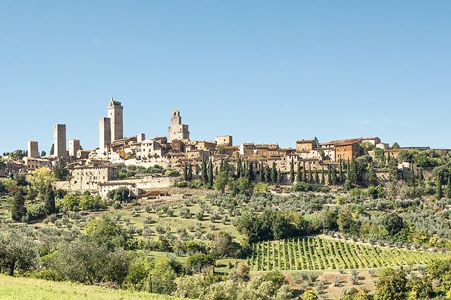
[[319,237],[284,239],[252,245],[252,271],[350,270],[423,265],[451,254],[343,242]]

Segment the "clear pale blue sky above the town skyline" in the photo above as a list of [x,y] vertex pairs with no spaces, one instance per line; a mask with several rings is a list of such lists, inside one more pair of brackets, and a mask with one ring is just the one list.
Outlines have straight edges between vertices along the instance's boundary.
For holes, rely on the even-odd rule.
[[126,136],[320,141],[378,135],[451,148],[451,1],[0,3],[0,152],[53,125],[98,146],[122,101]]

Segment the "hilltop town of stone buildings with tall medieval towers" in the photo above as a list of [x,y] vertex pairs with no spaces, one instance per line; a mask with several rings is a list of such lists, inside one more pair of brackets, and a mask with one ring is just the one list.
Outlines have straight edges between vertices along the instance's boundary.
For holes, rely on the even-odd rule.
[[[67,147],[66,125],[56,124],[54,144],[49,155],[45,155],[45,151],[39,152],[37,141],[28,141],[23,157],[3,158],[6,163],[3,175],[11,177],[16,173],[32,173],[42,167],[54,168],[56,162],[63,160],[70,174],[65,180],[56,182],[59,189],[98,192],[104,197],[113,189],[127,187],[134,196],[142,196],[146,189],[174,185],[174,181],[184,173],[185,177],[186,173],[202,177],[205,162],[211,163],[215,174],[223,161],[228,161],[235,170],[243,168],[242,165],[246,165],[247,169],[250,166],[255,174],[264,173],[267,168],[276,168],[278,183],[283,185],[294,181],[295,178],[290,176],[293,168],[297,173],[311,173],[313,177],[315,172],[338,173],[341,161],[348,162],[361,156],[369,155],[374,161],[386,161],[390,159],[389,156],[397,157],[402,150],[428,149],[401,148],[396,145],[390,149],[390,145],[379,137],[329,142],[319,142],[316,138],[299,139],[293,148],[252,142],[234,145],[230,135],[218,135],[214,141],[195,141],[190,139],[189,126],[182,123],[178,110],[171,113],[166,137],[148,138],[144,133],[124,137],[123,109],[121,102],[111,98],[107,108],[108,117],[99,120],[99,148],[82,149],[80,139],[70,139]],[[155,166],[166,170],[166,173],[154,173],[144,178],[126,175],[127,168],[148,169]],[[190,170],[187,171],[187,168]],[[409,176],[410,168],[412,165],[409,163],[398,165],[403,176]],[[323,183],[329,184],[328,180],[327,176],[324,177]]]

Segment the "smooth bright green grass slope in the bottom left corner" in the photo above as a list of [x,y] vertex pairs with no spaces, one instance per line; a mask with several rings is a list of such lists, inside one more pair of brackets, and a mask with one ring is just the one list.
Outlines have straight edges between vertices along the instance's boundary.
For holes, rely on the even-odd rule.
[[0,275],[0,299],[149,299],[170,300],[180,299],[171,296],[149,294],[144,292],[130,292],[121,289],[106,289],[77,285],[71,282],[52,282],[30,278],[15,278]]

